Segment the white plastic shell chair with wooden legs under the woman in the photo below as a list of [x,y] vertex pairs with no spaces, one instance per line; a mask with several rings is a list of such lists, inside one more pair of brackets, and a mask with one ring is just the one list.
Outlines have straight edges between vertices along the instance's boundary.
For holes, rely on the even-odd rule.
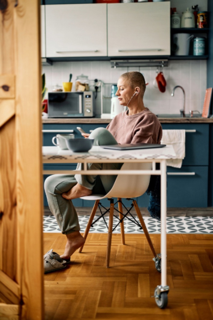
[[[124,163],[120,170],[151,170],[151,168],[152,168],[151,163]],[[122,209],[121,198],[130,199],[130,198],[136,198],[136,197],[142,196],[148,188],[149,181],[150,181],[150,175],[136,175],[136,174],[118,175],[113,187],[106,195],[93,194],[91,196],[81,197],[81,199],[85,199],[85,200],[95,200],[95,205],[92,209],[89,221],[87,223],[87,227],[86,227],[84,235],[83,235],[83,237],[85,239],[87,239],[87,235],[89,233],[90,227],[93,224],[93,219],[95,217],[95,213],[98,208],[100,200],[104,199],[104,198],[108,198],[110,200],[110,210],[108,210],[110,212],[110,215],[109,215],[107,257],[106,257],[106,267],[107,268],[109,268],[109,262],[110,262],[110,251],[111,251],[111,241],[112,241],[112,225],[113,225],[113,214],[114,214],[114,200],[112,198],[118,198],[118,212],[119,212],[119,220],[120,220],[120,228],[121,228],[121,242],[122,242],[122,244],[125,244],[124,223],[123,223],[124,214],[123,214],[123,209]],[[141,223],[141,227],[144,231],[144,234],[148,240],[148,244],[150,246],[150,249],[154,255],[153,260],[155,261],[156,269],[160,272],[161,270],[158,268],[160,256],[156,255],[154,246],[152,244],[148,230],[147,230],[146,225],[144,223],[144,220],[142,218],[140,209],[139,209],[137,202],[135,200],[133,200],[133,206],[134,206],[135,211],[138,215],[138,218]],[[108,211],[106,211],[106,212],[108,212]],[[104,212],[104,214],[106,212]],[[83,246],[81,246],[79,248],[79,252],[81,252],[82,249],[83,249]]]

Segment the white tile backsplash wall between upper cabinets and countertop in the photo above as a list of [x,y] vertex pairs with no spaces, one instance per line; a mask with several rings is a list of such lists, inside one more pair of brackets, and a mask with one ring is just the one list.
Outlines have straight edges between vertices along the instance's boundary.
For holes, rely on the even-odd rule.
[[[169,66],[163,69],[167,82],[166,91],[161,93],[154,87],[156,68],[111,68],[110,61],[72,61],[53,62],[52,66],[43,66],[42,72],[46,75],[46,86],[51,92],[56,84],[69,81],[72,73],[72,91],[75,91],[76,76],[84,74],[90,80],[97,78],[103,83],[116,84],[119,76],[128,71],[140,71],[147,85],[144,94],[144,105],[155,114],[179,114],[183,105],[183,92],[177,88],[174,96],[171,92],[174,86],[181,85],[186,92],[186,113],[189,110],[198,110],[202,113],[203,101],[207,83],[206,60],[170,60]],[[103,101],[103,112],[110,113],[110,99]],[[95,101],[95,114],[101,114],[101,96]]]

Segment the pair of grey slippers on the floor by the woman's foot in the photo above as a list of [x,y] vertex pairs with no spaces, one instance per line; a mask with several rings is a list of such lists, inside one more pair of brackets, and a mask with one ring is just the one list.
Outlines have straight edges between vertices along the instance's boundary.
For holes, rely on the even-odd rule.
[[70,263],[70,258],[62,259],[59,254],[51,249],[44,255],[44,273],[64,269],[68,263]]

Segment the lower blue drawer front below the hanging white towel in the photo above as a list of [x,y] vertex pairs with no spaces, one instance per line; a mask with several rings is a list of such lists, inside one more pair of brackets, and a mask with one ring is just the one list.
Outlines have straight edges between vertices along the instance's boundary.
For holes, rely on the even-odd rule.
[[203,208],[207,201],[208,166],[167,167],[167,207]]

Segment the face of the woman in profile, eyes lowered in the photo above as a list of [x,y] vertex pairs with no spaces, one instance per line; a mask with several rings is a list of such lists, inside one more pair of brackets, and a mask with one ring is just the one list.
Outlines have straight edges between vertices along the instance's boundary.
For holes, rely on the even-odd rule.
[[118,91],[116,96],[121,106],[127,106],[129,100],[132,98],[135,90],[128,84],[127,80],[124,78],[118,79]]

